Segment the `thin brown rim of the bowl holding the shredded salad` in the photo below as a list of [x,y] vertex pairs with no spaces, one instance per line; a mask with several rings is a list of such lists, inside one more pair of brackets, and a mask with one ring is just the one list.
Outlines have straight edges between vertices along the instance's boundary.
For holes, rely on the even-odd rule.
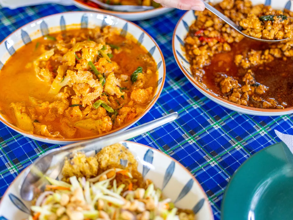
[[[120,143],[122,141],[119,141],[118,143]],[[205,199],[205,202],[207,203],[208,205],[208,209],[209,209],[209,215],[210,215],[210,220],[214,220],[214,214],[213,214],[213,211],[212,211],[212,207],[211,205],[209,204],[209,198],[207,197],[207,194],[205,193],[205,190],[202,188],[202,186],[200,185],[200,183],[197,181],[197,179],[186,169],[186,167],[184,167],[181,163],[179,163],[177,160],[175,160],[174,158],[172,158],[170,155],[168,154],[165,154],[163,152],[161,152],[160,150],[158,149],[155,149],[155,148],[152,148],[148,145],[144,145],[144,144],[141,144],[141,143],[137,143],[137,142],[133,142],[133,141],[123,141],[123,142],[127,142],[127,143],[134,143],[134,144],[138,144],[138,145],[142,145],[146,148],[149,148],[151,150],[155,150],[157,151],[158,153],[160,154],[163,154],[165,156],[167,156],[168,158],[170,158],[171,160],[173,160],[176,164],[180,165],[185,171],[187,171],[187,173],[191,176],[191,178],[193,179],[193,181],[197,184],[198,188],[202,191],[202,194],[203,194],[203,197]],[[48,150],[50,151],[50,150]],[[48,152],[47,151],[47,152]],[[25,167],[25,169],[23,169],[23,171],[21,171],[17,177],[10,183],[10,185],[7,187],[6,191],[4,192],[2,198],[4,198],[6,196],[6,194],[8,193],[8,190],[9,188],[15,183],[15,181],[17,180],[18,177],[20,177],[32,164],[28,165],[27,167]],[[19,189],[19,188],[18,188]],[[3,199],[0,200],[0,207],[1,207],[1,204],[2,204],[2,201]]]

